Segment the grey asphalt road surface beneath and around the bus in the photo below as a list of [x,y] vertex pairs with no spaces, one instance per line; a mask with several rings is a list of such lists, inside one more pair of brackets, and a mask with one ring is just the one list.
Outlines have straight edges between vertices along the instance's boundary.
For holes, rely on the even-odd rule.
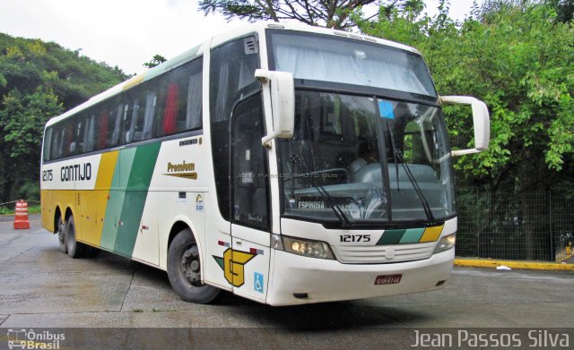
[[39,216],[30,230],[13,230],[12,218],[0,218],[0,286],[3,329],[318,328],[348,340],[373,328],[574,328],[572,272],[456,268],[443,290],[417,295],[297,307],[234,295],[185,303],[160,270],[108,252],[68,258]]

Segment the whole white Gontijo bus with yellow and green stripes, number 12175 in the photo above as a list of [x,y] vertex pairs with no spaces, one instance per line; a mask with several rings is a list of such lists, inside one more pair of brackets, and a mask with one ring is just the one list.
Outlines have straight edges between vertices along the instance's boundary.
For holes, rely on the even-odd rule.
[[[452,151],[442,103],[472,106]],[[380,38],[257,23],[46,125],[42,224],[167,270],[182,299],[318,303],[444,286],[457,233],[451,157],[489,116],[439,97],[422,55]]]

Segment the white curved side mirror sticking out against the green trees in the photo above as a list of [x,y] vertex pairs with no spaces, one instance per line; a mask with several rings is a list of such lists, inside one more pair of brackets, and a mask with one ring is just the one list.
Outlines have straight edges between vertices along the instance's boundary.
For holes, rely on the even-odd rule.
[[483,101],[470,96],[441,96],[440,102],[443,104],[470,105],[473,108],[474,149],[452,150],[450,154],[453,157],[488,149],[488,143],[491,141],[491,120],[488,115],[488,108]]

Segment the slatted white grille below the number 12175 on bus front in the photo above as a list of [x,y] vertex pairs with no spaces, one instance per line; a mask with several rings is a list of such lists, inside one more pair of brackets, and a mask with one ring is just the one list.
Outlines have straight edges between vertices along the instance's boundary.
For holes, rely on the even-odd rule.
[[[431,258],[436,242],[392,245],[338,245],[334,246],[338,260],[351,264],[386,264]],[[387,249],[395,250],[387,258]],[[389,254],[390,255],[390,254]]]

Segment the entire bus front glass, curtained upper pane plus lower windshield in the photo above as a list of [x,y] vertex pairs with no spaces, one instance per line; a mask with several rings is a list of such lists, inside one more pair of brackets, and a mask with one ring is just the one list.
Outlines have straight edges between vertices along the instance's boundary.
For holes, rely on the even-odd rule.
[[304,35],[270,39],[272,69],[296,87],[293,138],[277,142],[283,215],[345,227],[453,217],[444,116],[422,57]]

